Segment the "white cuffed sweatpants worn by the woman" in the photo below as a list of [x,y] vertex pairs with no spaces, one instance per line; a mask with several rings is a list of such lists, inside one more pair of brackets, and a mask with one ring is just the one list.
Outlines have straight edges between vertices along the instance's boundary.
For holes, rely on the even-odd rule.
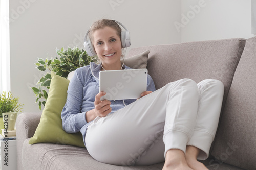
[[132,166],[164,161],[169,149],[199,148],[206,159],[216,133],[224,86],[207,79],[182,79],[88,126],[86,146],[103,163]]

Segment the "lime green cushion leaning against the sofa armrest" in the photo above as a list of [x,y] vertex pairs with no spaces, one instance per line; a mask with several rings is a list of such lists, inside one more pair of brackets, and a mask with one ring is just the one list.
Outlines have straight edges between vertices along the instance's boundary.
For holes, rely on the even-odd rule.
[[59,143],[84,147],[82,134],[62,129],[61,111],[66,103],[69,80],[51,72],[52,80],[40,123],[29,144]]

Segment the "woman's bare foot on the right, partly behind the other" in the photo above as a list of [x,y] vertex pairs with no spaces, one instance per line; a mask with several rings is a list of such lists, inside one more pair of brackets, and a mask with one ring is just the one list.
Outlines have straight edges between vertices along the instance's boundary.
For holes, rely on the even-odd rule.
[[187,146],[185,159],[188,166],[192,169],[197,170],[207,170],[208,168],[204,166],[203,163],[197,160],[197,156],[199,154],[199,149],[193,146]]

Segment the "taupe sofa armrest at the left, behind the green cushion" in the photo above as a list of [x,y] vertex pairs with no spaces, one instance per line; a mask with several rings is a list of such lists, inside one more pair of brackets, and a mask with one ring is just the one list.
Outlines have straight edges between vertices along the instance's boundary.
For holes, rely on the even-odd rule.
[[35,130],[40,122],[42,112],[26,112],[19,114],[16,121],[16,132],[17,132],[17,168],[23,169],[22,167],[22,147],[23,142],[27,138],[34,135]]

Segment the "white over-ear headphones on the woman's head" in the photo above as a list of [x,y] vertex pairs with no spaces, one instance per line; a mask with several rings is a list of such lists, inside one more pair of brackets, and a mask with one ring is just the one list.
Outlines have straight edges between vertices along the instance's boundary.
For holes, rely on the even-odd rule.
[[[119,25],[121,25],[125,31],[121,32],[121,43],[122,43],[122,48],[126,48],[129,47],[131,45],[131,41],[130,41],[130,33],[129,31],[126,29],[126,27],[124,27],[124,25],[122,25],[122,23],[113,20],[114,22],[118,23]],[[89,33],[90,28],[87,30],[86,35],[84,36],[84,42],[83,42],[83,46],[84,46],[84,50],[86,50],[87,54],[89,56],[97,56],[97,53],[94,50],[93,44],[91,43],[91,40],[86,40],[88,33]]]

